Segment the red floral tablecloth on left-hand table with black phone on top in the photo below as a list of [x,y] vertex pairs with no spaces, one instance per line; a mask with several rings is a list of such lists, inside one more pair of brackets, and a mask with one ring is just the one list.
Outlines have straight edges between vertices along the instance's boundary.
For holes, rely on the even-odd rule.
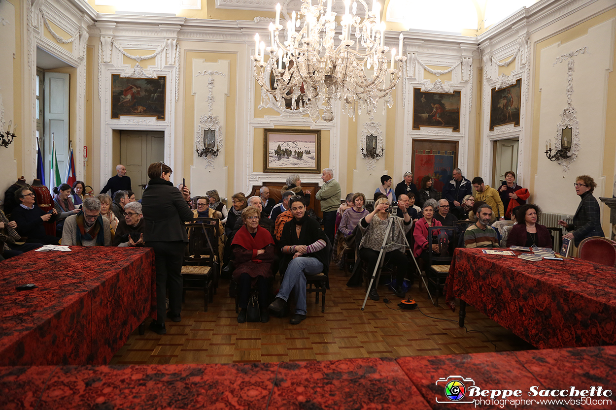
[[[15,286],[34,283],[30,291]],[[71,246],[0,263],[0,365],[106,364],[155,310],[150,248]]]

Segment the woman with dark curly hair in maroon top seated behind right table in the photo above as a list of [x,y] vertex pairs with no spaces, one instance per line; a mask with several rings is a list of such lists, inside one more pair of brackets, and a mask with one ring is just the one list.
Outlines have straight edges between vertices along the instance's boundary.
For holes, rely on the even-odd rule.
[[517,220],[507,238],[507,246],[549,247],[552,239],[548,228],[539,225],[541,209],[535,204],[524,204],[517,211]]

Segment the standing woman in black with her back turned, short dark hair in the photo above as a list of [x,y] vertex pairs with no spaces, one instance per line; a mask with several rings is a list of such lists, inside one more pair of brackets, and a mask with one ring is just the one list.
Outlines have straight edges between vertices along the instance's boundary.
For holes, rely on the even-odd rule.
[[[164,317],[180,321],[182,310],[182,260],[188,235],[184,222],[192,220],[188,206],[188,187],[184,192],[173,186],[171,167],[160,163],[148,167],[148,182],[141,201],[144,212],[145,246],[154,249],[156,258],[156,320],[150,329],[165,334]],[[166,314],[165,290],[169,288],[169,313]]]

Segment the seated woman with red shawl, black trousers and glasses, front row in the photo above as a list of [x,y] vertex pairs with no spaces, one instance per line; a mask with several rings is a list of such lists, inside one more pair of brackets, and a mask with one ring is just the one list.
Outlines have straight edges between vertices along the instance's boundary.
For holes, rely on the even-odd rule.
[[233,237],[231,244],[235,257],[233,280],[238,285],[238,305],[240,305],[238,323],[246,321],[246,308],[252,284],[256,285],[259,292],[261,322],[269,321],[267,279],[272,277],[272,262],[275,259],[276,249],[272,235],[267,229],[259,226],[259,219],[261,219],[261,211],[258,207],[248,206],[241,211],[243,225]]

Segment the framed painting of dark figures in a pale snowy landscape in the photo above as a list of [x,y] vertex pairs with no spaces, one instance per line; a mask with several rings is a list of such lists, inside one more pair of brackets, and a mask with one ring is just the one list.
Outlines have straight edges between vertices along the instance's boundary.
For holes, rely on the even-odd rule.
[[265,129],[263,172],[321,172],[321,131]]

